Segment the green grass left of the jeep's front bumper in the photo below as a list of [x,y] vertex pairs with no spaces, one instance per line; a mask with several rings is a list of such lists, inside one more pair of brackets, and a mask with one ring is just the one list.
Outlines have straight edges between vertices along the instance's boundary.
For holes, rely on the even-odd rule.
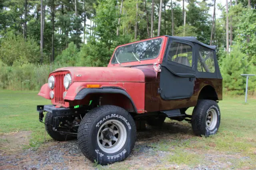
[[37,93],[0,90],[0,134],[30,130],[30,146],[39,146],[44,142],[44,125],[39,122],[36,105],[47,105],[50,101],[38,96]]

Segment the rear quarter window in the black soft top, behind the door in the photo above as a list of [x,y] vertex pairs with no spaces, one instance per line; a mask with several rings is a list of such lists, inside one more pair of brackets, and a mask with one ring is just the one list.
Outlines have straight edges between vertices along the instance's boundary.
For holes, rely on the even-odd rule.
[[198,61],[197,61],[197,70],[200,72],[214,73],[214,53],[213,50],[200,47]]

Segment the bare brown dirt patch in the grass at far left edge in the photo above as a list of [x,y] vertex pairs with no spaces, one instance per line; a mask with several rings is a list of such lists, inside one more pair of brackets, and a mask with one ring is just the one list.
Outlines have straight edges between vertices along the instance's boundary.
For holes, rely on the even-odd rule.
[[19,152],[29,145],[31,131],[3,133],[0,136],[0,155]]

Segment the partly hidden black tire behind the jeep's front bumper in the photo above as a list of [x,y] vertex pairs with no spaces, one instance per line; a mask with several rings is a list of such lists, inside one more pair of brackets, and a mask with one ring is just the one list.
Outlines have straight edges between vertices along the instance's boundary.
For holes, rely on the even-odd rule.
[[54,130],[52,130],[52,119],[53,119],[52,113],[47,112],[45,115],[44,126],[46,129],[46,132],[51,136],[51,138],[58,141],[72,140],[76,138],[75,136],[60,134],[60,132],[55,132]]

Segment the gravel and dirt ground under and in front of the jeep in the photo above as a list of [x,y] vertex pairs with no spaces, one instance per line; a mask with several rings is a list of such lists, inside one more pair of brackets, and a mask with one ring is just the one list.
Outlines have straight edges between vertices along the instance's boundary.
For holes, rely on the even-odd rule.
[[[1,148],[4,145],[8,150],[0,154],[1,169],[230,169],[236,167],[236,162],[241,159],[250,160],[240,154],[226,154],[216,150],[204,150],[202,148],[178,148],[187,155],[200,155],[200,162],[193,166],[176,164],[172,159],[180,155],[177,144],[186,142],[194,137],[191,126],[182,123],[164,123],[161,128],[147,127],[137,132],[137,140],[132,153],[123,162],[117,162],[109,166],[99,166],[80,152],[77,140],[66,142],[48,141],[37,150],[29,148],[22,150],[22,146],[29,144],[30,132],[13,132],[1,137]],[[178,142],[177,142],[178,140]],[[8,142],[10,144],[8,144]],[[165,142],[168,142],[166,145]],[[169,144],[170,143],[170,144]],[[214,148],[214,143],[210,143]],[[165,147],[168,147],[165,150]],[[175,149],[176,148],[176,149]],[[14,152],[14,149],[15,152]],[[185,150],[185,152],[183,152]],[[253,150],[254,151],[254,150]],[[187,155],[180,156],[185,161],[190,158]],[[190,160],[187,160],[190,162]]]

